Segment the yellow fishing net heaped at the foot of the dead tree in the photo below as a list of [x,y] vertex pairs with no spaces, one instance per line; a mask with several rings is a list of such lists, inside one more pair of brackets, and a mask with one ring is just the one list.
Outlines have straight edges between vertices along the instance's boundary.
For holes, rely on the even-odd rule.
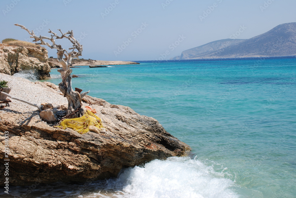
[[86,113],[82,117],[65,119],[59,126],[59,128],[72,128],[74,131],[77,131],[80,134],[86,133],[89,131],[89,126],[95,126],[97,128],[103,128],[102,120],[94,113],[86,110]]

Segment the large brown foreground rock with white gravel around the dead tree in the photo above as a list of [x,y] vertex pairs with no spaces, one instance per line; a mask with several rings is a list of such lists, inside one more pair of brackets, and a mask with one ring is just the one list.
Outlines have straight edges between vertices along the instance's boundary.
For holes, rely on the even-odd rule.
[[[51,103],[54,110],[67,104],[52,83],[33,83],[1,73],[0,77],[11,82],[13,96],[36,104]],[[106,133],[79,134],[70,128],[55,128],[41,120],[35,107],[15,100],[10,107],[0,110],[0,149],[4,150],[6,132],[11,185],[105,179],[117,176],[122,168],[186,156],[190,151],[157,120],[139,115],[129,107],[91,96],[83,98],[83,106],[96,109]],[[0,158],[3,167],[4,152]],[[4,178],[0,182],[4,183]]]

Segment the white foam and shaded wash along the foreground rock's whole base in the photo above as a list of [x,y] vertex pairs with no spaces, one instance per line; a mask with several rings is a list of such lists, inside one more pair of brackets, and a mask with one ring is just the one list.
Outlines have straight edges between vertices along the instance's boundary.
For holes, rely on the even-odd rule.
[[[214,197],[237,198],[236,184],[227,172],[188,157],[153,160],[144,166],[124,169],[117,178],[85,184],[54,183],[34,189],[38,197]],[[30,187],[30,186],[29,186]],[[27,190],[27,191],[26,191]],[[12,195],[28,194],[28,187],[13,187]]]

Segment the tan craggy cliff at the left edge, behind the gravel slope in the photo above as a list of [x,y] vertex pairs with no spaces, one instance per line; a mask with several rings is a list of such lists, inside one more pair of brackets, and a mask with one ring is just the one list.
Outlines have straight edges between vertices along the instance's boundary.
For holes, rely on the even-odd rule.
[[0,73],[13,75],[25,70],[33,70],[40,80],[49,78],[47,50],[0,44]]

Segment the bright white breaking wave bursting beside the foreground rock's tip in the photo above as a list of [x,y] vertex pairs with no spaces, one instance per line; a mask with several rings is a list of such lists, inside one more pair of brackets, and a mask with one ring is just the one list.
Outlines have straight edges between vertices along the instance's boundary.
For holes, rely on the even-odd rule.
[[116,180],[108,180],[108,188],[122,186],[115,197],[239,197],[231,189],[234,182],[224,176],[198,160],[170,157],[126,169]]

